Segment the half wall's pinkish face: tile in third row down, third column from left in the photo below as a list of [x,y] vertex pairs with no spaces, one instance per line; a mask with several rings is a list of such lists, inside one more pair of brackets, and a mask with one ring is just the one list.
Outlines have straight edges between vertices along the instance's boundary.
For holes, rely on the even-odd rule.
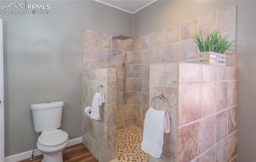
[[228,111],[216,114],[216,142],[228,135]]

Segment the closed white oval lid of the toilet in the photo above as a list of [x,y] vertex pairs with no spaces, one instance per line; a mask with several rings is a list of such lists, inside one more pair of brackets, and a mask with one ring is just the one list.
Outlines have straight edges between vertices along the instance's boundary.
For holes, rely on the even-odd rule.
[[38,138],[38,142],[44,146],[53,147],[66,142],[67,139],[67,132],[60,129],[54,129],[47,132],[42,132]]

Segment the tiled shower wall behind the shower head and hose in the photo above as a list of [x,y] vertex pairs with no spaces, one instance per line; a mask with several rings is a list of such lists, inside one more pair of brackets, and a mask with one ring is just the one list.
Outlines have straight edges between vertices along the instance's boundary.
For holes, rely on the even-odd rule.
[[[116,68],[116,128],[134,125],[134,57],[133,38],[112,39],[111,34],[83,31],[83,70]],[[124,57],[126,54],[126,96],[124,103]]]

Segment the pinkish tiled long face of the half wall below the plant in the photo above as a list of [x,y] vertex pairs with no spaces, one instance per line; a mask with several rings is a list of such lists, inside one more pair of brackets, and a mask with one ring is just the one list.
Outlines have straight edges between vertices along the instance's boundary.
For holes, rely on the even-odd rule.
[[178,162],[236,162],[234,67],[179,64]]

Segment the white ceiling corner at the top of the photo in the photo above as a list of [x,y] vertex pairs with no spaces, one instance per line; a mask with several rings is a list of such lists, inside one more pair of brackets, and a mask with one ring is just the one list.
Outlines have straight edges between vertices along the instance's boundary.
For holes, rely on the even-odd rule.
[[102,4],[117,8],[134,14],[135,12],[141,10],[142,8],[152,4],[156,0],[95,0]]

